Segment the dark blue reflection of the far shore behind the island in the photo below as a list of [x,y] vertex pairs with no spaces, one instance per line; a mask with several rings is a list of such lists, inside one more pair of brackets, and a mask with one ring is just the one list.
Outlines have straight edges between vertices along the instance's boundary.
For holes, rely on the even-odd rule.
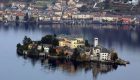
[[[2,24],[2,23],[1,23]],[[98,37],[102,43],[109,43],[111,47],[113,43],[120,45],[140,46],[140,27],[139,26],[112,26],[112,25],[28,25],[28,24],[8,24],[1,25],[0,30],[26,31],[26,32],[41,32],[46,34],[68,34],[79,35],[93,42],[94,37]],[[105,45],[105,44],[103,44]]]

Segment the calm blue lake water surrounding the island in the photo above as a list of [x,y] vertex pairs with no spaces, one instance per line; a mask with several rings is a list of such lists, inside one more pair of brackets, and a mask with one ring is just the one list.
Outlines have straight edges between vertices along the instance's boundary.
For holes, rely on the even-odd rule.
[[[127,66],[98,63],[74,63],[61,60],[33,60],[16,54],[16,44],[25,35],[39,40],[46,34],[79,35],[93,42],[94,37],[106,48],[115,49],[129,60]],[[128,26],[100,25],[0,25],[1,80],[139,80],[140,29]]]

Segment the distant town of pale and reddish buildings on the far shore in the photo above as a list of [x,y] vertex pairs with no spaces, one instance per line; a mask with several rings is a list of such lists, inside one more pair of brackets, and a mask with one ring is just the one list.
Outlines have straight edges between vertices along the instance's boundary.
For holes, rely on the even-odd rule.
[[140,24],[138,0],[26,0],[0,3],[1,22]]

